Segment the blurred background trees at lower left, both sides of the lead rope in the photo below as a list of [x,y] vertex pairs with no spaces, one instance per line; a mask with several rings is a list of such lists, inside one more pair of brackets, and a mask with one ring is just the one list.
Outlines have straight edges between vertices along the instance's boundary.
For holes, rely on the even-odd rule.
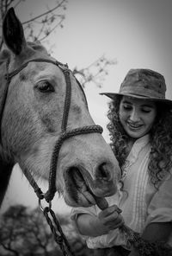
[[[64,235],[76,256],[91,255],[69,215],[58,215]],[[58,245],[40,208],[11,206],[0,218],[0,255],[61,256]]]

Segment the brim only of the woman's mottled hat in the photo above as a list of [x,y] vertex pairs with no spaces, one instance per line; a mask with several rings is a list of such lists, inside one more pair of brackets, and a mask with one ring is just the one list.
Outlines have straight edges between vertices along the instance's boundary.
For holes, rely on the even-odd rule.
[[115,96],[126,96],[126,97],[131,97],[131,98],[136,98],[136,99],[149,99],[149,100],[153,100],[153,101],[162,102],[164,104],[168,104],[172,107],[172,100],[170,100],[170,99],[148,98],[148,97],[145,97],[142,95],[132,94],[132,93],[99,93],[99,94],[106,95],[110,99],[114,99]]

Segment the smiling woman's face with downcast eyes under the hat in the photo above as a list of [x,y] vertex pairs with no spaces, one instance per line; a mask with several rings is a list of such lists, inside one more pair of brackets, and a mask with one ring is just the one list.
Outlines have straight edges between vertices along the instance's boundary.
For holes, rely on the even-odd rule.
[[155,102],[123,96],[120,101],[120,123],[132,138],[140,138],[151,130],[157,116]]

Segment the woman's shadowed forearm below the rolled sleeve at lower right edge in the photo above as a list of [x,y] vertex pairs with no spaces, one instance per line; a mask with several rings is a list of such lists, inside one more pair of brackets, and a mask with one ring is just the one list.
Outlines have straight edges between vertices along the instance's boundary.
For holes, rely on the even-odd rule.
[[[167,242],[169,234],[172,232],[172,222],[152,222],[144,229],[142,238],[151,242],[164,241]],[[133,250],[129,256],[138,256],[139,254]]]

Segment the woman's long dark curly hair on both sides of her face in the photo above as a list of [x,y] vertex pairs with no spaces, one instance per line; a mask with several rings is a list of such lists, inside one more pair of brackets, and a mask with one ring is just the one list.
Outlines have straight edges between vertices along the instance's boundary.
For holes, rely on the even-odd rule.
[[[128,143],[130,137],[126,134],[120,123],[120,100],[122,96],[115,95],[114,100],[109,103],[107,125],[109,131],[111,148],[117,158],[120,168],[126,163],[128,154]],[[172,168],[172,110],[169,106],[157,102],[157,118],[151,127],[150,143],[151,153],[148,165],[152,184],[157,188],[164,176],[170,174]]]

